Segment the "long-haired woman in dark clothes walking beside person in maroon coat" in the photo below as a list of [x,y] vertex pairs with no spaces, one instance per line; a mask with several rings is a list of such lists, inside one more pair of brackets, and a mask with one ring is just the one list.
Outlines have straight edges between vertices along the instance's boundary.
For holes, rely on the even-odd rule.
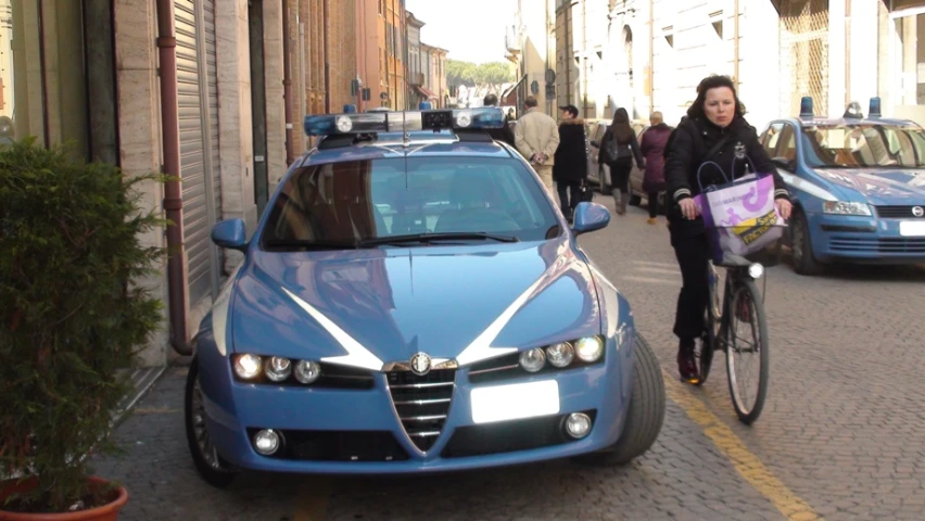
[[633,170],[633,160],[641,169],[645,167],[643,154],[639,151],[639,141],[636,132],[630,126],[630,115],[623,107],[613,113],[610,127],[600,138],[599,164],[610,167],[610,179],[613,182],[613,201],[617,205],[617,214],[626,213],[630,203],[630,173]]

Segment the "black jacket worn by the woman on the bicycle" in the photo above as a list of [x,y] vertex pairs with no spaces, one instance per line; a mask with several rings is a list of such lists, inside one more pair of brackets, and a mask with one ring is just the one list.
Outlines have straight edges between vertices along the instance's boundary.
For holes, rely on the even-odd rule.
[[[726,138],[725,143],[710,157],[705,157],[723,138]],[[704,167],[698,182],[697,169],[707,161],[720,165],[730,180],[743,177],[746,174],[744,158],[736,158],[734,171],[731,171],[737,150],[739,153],[745,152],[759,173],[774,176],[774,199],[789,201],[789,192],[784,185],[784,179],[777,174],[777,167],[758,141],[755,128],[744,117],[736,116],[726,128],[720,128],[705,116],[690,116],[677,125],[664,162],[666,199],[669,201],[668,220],[671,223],[672,233],[696,234],[704,231],[704,219],[698,217],[694,220],[684,220],[677,203],[699,194],[701,186],[726,182],[723,174],[713,165]]]

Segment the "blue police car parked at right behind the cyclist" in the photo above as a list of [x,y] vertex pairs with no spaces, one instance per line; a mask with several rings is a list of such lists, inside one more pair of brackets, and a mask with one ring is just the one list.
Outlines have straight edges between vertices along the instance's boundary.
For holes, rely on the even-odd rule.
[[925,262],[925,129],[851,103],[840,118],[813,114],[772,122],[761,135],[794,199],[789,242],[794,269],[829,263]]

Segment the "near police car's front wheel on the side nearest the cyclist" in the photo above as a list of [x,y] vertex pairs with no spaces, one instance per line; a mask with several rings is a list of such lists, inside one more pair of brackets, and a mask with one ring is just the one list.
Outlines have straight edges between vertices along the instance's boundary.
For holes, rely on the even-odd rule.
[[655,352],[636,333],[633,394],[623,423],[623,434],[610,447],[574,458],[596,466],[625,465],[645,454],[658,439],[664,423],[664,379]]

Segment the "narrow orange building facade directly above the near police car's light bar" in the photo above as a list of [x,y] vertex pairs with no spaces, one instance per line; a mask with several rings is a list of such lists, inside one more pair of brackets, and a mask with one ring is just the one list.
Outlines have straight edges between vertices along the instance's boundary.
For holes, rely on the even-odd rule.
[[407,107],[405,56],[407,37],[404,0],[356,0],[356,60],[369,101],[360,111],[377,106]]

